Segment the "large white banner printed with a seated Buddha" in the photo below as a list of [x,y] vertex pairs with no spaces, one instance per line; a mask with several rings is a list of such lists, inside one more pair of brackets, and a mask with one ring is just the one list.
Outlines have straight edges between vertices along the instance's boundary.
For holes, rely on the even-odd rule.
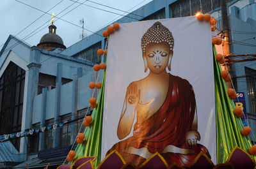
[[196,17],[120,24],[110,34],[102,154],[140,166],[158,152],[190,166],[216,163],[211,26]]

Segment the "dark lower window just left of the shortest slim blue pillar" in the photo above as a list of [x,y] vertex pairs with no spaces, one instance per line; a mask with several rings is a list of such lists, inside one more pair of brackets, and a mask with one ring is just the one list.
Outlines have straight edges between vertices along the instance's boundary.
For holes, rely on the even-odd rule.
[[35,133],[36,128],[40,128],[40,122],[33,124],[34,134],[28,136],[28,152],[38,152],[39,147],[39,133]]

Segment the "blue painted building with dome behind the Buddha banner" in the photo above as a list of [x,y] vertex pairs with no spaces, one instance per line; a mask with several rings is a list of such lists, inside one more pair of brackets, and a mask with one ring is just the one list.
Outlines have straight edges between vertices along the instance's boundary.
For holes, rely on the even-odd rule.
[[[256,41],[252,38],[256,36],[255,0],[227,0],[227,3],[230,53],[255,54]],[[221,30],[219,0],[151,1],[116,22],[186,17],[197,11],[218,18]],[[47,163],[54,168],[63,163],[65,149],[74,142],[86,112],[90,113],[88,100],[93,91],[88,89],[88,83],[95,81],[97,74],[99,81],[102,77],[102,72],[95,73],[92,66],[102,59],[97,50],[106,45],[106,38],[101,36],[104,30],[106,27],[68,48],[56,36],[56,26],[49,26],[49,33],[37,47],[13,36],[8,38],[0,52],[0,135],[59,123],[63,127],[0,142],[0,168],[19,163],[15,168],[26,168],[24,161],[28,161],[29,168],[44,168]],[[244,92],[253,131],[256,128],[255,61],[235,62],[231,73],[236,91]],[[47,156],[54,151],[62,151],[64,155]]]

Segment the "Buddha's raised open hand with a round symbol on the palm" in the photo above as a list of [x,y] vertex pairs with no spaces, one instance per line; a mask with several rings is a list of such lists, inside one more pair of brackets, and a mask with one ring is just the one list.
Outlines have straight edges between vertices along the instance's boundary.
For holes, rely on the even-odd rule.
[[140,100],[140,89],[136,83],[131,83],[127,87],[127,101],[130,105],[138,105]]

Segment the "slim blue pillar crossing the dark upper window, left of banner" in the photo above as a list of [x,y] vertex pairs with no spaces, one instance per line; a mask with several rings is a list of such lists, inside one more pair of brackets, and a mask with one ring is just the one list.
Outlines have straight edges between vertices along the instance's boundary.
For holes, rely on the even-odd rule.
[[[56,77],[56,98],[55,98],[55,112],[54,124],[60,122],[60,95],[61,95],[61,77],[62,77],[62,64],[57,63],[57,77]],[[53,145],[52,147],[60,146],[60,128],[53,129]]]

